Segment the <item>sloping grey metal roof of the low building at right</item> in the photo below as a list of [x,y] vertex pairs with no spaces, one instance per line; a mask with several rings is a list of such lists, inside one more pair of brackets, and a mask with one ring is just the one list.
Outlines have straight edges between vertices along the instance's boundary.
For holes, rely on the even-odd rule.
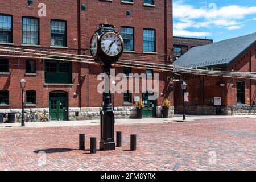
[[186,68],[228,66],[243,52],[256,43],[256,32],[233,39],[193,47],[179,59],[174,65]]

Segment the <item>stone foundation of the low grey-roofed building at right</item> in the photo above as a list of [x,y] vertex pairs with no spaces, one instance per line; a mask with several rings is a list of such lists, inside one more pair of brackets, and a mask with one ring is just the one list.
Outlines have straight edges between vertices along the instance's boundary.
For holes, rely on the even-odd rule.
[[[186,114],[216,115],[215,106],[187,105]],[[183,114],[183,105],[175,106],[175,114]],[[221,106],[220,115],[256,115],[256,106],[233,105]]]

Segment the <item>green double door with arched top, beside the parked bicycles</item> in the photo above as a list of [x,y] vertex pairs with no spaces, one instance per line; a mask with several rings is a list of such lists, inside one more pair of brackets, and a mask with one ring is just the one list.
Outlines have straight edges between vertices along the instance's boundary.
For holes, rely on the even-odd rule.
[[68,94],[51,92],[49,95],[49,111],[52,120],[68,120]]

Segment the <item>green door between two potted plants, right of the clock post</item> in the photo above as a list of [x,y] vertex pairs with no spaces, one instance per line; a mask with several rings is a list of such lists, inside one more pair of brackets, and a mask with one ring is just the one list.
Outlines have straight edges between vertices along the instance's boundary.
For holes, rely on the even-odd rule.
[[142,95],[142,100],[145,105],[143,107],[143,117],[152,118],[156,115],[156,100],[149,100],[148,93]]

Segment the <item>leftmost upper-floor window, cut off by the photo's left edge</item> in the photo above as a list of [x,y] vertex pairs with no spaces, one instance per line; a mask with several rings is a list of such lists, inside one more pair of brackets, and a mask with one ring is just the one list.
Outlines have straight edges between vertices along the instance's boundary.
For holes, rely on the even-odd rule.
[[0,14],[0,42],[13,42],[13,17]]

